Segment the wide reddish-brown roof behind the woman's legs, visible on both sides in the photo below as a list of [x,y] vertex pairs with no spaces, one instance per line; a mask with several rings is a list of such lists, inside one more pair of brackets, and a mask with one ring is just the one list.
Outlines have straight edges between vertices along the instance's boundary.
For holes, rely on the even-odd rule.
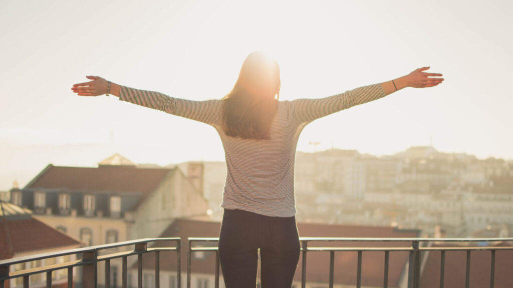
[[[187,237],[218,237],[221,228],[219,222],[194,221],[187,219],[177,219],[159,236],[159,237],[181,237],[182,239],[182,269],[187,269]],[[396,230],[388,227],[364,227],[349,225],[325,225],[298,223],[299,233],[302,237],[417,237],[418,232],[412,230]],[[171,243],[169,243],[171,245]],[[216,245],[213,242],[213,245]],[[159,242],[159,246],[165,243]],[[205,242],[205,246],[209,244]],[[212,243],[210,243],[212,245]],[[358,242],[358,243],[332,243],[310,242],[309,246],[408,246],[407,243],[380,243],[380,242]],[[357,252],[339,252],[335,254],[335,283],[344,283],[356,285],[357,275]],[[365,252],[362,260],[362,285],[364,286],[383,286],[384,272],[384,252]],[[164,256],[161,256],[163,259]],[[174,255],[172,256],[174,258]],[[176,262],[161,261],[160,269],[167,271],[176,271]],[[404,266],[408,259],[407,252],[392,252],[389,258],[389,285],[397,286]],[[295,281],[301,281],[301,258],[298,270],[294,276]],[[144,269],[154,270],[154,254],[146,254],[143,260]],[[215,263],[215,254],[205,252],[204,259],[192,260],[193,273],[213,274]],[[136,269],[136,266],[132,267]],[[329,279],[329,253],[315,252],[308,254],[307,260],[307,281],[308,282],[328,282]]]

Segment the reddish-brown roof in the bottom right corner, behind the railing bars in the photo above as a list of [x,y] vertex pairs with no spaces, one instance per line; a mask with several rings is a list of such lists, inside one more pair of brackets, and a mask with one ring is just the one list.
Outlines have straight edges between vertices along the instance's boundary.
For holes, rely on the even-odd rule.
[[[447,247],[449,245],[443,245]],[[504,243],[497,246],[507,246]],[[433,245],[440,247],[440,245]],[[440,286],[440,252],[430,252],[421,276],[421,288]],[[465,286],[466,251],[445,252],[444,287]],[[470,288],[490,286],[491,252],[472,251],[470,254]],[[497,251],[495,255],[495,288],[511,288],[513,282],[513,251]]]

